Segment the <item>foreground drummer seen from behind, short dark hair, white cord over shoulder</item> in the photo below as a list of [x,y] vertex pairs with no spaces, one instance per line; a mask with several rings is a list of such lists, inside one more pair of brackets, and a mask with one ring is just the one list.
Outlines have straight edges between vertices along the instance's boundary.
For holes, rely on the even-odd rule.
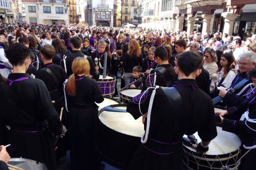
[[[213,103],[195,81],[201,72],[201,60],[197,55],[193,51],[184,52],[175,67],[179,80],[173,87],[181,95],[182,102],[173,106],[169,102],[172,93],[164,92],[159,86],[148,88],[129,102],[127,112],[135,119],[143,115],[142,119],[147,120],[142,144],[131,158],[129,170],[180,170],[184,134],[198,131],[202,139],[197,145],[199,152],[208,151],[210,141],[217,136]],[[151,102],[153,104],[149,104]]]

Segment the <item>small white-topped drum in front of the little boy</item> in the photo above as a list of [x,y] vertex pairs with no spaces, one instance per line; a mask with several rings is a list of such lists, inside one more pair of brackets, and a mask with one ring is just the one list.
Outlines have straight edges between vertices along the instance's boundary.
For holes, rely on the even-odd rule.
[[137,96],[141,93],[140,88],[125,88],[121,89],[119,91],[119,98],[118,100],[121,101],[121,103],[128,103],[130,100],[132,100],[133,97]]

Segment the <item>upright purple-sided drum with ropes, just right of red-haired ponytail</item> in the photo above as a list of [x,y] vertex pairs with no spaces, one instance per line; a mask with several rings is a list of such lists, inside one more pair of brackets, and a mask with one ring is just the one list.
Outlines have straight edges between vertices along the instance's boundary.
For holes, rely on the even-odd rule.
[[115,76],[106,76],[106,78],[103,79],[103,76],[99,75],[97,82],[103,96],[111,96],[115,93]]

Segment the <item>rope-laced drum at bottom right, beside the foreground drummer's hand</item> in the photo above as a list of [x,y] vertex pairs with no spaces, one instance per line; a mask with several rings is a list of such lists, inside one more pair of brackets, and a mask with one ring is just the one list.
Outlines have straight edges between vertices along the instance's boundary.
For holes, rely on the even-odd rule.
[[[236,170],[240,165],[239,137],[231,132],[222,131],[217,126],[218,135],[210,142],[209,151],[205,154],[184,145],[183,163],[189,170]],[[198,142],[201,142],[197,132],[194,134]],[[187,135],[184,135],[187,137]]]

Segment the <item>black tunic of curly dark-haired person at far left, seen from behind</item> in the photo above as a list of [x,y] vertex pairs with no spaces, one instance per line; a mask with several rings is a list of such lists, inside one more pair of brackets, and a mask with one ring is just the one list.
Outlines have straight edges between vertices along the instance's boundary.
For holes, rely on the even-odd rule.
[[[12,73],[8,79],[14,81],[22,77],[30,76],[26,73]],[[42,80],[28,78],[13,82],[10,88],[17,95],[19,102],[17,105],[9,102],[7,98],[10,96],[3,91],[1,84],[0,120],[5,124],[11,123],[11,157],[43,162],[49,170],[55,170],[55,137],[53,138],[49,130],[54,134],[60,134],[62,123],[53,107],[46,85]]]

